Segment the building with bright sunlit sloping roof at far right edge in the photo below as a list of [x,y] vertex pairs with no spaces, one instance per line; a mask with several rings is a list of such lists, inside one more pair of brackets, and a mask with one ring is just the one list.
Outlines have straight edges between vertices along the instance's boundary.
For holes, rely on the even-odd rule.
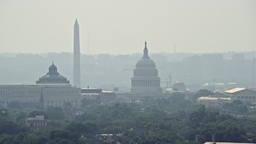
[[242,102],[256,102],[256,91],[246,88],[234,88],[226,90],[225,94],[229,95],[231,100],[240,100]]

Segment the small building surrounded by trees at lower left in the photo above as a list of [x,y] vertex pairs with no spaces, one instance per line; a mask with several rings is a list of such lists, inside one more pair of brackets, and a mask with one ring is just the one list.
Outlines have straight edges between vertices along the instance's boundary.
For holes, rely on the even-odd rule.
[[34,131],[47,127],[49,123],[50,120],[46,120],[44,115],[36,115],[33,118],[26,118],[26,126]]

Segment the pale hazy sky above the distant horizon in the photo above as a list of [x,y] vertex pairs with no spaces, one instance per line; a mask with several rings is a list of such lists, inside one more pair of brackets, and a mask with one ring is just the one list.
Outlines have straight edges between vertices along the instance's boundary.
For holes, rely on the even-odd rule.
[[[254,50],[254,0],[0,0],[0,53]],[[89,42],[89,44],[88,44]],[[89,49],[88,49],[89,46]]]

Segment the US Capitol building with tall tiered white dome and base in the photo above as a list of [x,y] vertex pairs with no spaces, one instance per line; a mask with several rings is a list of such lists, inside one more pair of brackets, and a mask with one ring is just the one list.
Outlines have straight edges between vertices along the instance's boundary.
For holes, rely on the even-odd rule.
[[131,78],[130,93],[118,94],[119,98],[124,98],[128,102],[142,99],[165,98],[160,87],[158,69],[154,61],[149,57],[145,42],[143,56],[135,65],[134,77]]

